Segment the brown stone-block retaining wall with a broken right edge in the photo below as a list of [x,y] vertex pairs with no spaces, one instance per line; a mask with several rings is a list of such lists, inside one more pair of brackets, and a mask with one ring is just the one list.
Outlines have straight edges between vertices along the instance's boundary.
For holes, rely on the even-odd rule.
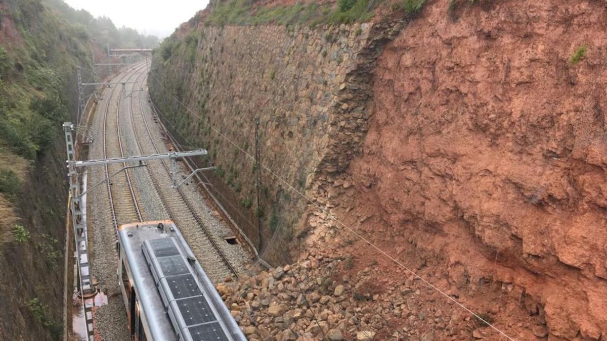
[[[403,23],[311,29],[216,27],[200,20],[184,24],[154,54],[152,100],[188,147],[209,150],[217,180],[240,200],[236,211],[256,210],[261,172],[263,251],[285,262],[283,243],[305,234],[307,204],[289,186],[310,193],[319,174],[344,170],[356,153],[366,129],[369,71]],[[254,164],[256,120],[260,160],[285,182]],[[259,245],[254,214],[244,220],[243,229]]]

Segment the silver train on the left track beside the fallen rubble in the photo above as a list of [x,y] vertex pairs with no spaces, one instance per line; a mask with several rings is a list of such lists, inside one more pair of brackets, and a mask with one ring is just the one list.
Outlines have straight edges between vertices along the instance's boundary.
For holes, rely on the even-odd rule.
[[172,220],[121,225],[117,251],[132,340],[246,340]]

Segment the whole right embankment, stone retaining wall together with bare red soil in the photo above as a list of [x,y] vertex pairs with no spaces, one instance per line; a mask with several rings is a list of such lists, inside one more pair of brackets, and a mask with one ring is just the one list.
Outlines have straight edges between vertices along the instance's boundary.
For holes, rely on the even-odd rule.
[[[368,24],[313,28],[223,27],[283,7],[235,17],[213,6],[155,53],[151,95],[190,146],[211,150],[243,208],[255,207],[257,170],[223,137],[254,155],[259,118],[262,164],[511,336],[607,334],[605,5],[445,0],[410,24],[381,7]],[[382,288],[402,284],[325,212],[268,172],[262,183],[264,234],[293,231],[275,250],[328,241],[319,249],[354,255],[336,277],[370,266]],[[378,295],[393,303],[392,291]],[[490,336],[428,298],[407,299],[398,323],[430,338]]]

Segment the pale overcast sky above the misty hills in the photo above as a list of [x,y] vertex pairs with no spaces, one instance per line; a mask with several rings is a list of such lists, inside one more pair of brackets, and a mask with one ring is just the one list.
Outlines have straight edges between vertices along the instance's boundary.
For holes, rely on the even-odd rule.
[[171,35],[182,22],[192,18],[208,0],[64,0],[94,16],[107,16],[117,27],[125,25],[140,33]]

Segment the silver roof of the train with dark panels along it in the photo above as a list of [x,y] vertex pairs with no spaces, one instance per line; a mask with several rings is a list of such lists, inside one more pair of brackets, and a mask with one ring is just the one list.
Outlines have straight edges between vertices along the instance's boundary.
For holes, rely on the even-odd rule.
[[[157,228],[158,222],[140,223],[140,227],[131,224],[120,230],[129,242],[139,234],[138,254],[148,274],[143,291],[154,291],[154,308],[161,306],[164,320],[172,326],[173,333],[177,331],[176,340],[246,340],[177,226],[169,223],[165,221],[161,233],[158,233],[161,230]],[[129,232],[132,237],[127,237]],[[154,295],[149,294],[149,298],[152,297]]]

